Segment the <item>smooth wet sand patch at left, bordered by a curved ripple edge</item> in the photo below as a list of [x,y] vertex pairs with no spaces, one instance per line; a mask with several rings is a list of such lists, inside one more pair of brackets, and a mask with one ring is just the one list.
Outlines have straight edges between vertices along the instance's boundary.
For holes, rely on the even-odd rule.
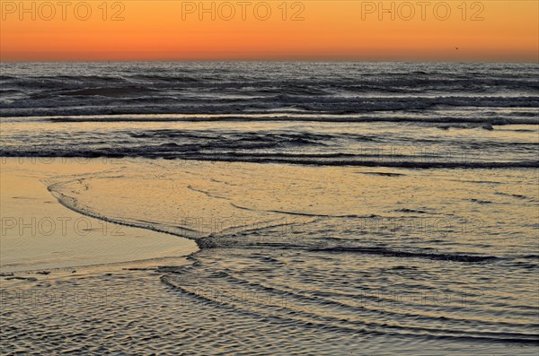
[[1,163],[2,274],[137,263],[199,250],[186,237],[77,211],[43,184],[62,173],[110,168],[101,161],[15,160]]

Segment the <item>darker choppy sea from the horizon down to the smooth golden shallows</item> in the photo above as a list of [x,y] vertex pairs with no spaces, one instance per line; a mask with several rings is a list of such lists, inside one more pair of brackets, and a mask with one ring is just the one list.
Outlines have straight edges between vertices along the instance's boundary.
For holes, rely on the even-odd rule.
[[84,75],[76,64],[29,68],[3,64],[4,156],[539,165],[537,65],[91,63]]

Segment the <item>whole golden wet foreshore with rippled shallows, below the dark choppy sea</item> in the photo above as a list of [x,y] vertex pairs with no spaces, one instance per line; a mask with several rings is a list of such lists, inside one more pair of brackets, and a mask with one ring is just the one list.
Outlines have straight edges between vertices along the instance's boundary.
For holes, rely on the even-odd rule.
[[487,193],[471,170],[24,160],[2,163],[3,354],[535,354],[533,240],[473,213],[533,215],[509,170]]

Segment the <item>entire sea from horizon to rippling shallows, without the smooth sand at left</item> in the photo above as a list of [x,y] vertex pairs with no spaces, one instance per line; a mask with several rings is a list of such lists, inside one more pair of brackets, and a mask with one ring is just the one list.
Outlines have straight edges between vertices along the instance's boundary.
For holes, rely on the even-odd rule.
[[138,347],[536,353],[537,65],[8,66],[3,156],[121,158],[49,189],[201,247],[126,277],[186,316]]

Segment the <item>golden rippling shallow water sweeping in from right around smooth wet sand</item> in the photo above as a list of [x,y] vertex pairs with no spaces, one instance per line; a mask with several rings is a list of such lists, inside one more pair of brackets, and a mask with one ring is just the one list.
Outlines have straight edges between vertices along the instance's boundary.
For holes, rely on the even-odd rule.
[[50,189],[78,212],[197,239],[162,281],[199,302],[316,334],[536,351],[534,169],[142,160],[74,178]]

